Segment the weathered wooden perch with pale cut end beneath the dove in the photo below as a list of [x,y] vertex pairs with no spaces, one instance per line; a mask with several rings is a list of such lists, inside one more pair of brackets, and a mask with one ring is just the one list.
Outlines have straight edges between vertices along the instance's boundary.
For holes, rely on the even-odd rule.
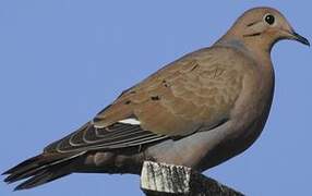
[[141,188],[146,196],[241,196],[243,194],[191,168],[145,161]]

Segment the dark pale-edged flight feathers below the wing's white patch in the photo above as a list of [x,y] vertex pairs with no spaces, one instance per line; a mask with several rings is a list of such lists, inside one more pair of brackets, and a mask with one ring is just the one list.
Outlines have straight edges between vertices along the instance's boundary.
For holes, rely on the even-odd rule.
[[165,138],[168,138],[168,136],[144,131],[140,125],[115,123],[105,128],[97,128],[89,122],[63,139],[47,146],[45,151],[72,152],[95,149],[116,149],[129,146],[140,146]]

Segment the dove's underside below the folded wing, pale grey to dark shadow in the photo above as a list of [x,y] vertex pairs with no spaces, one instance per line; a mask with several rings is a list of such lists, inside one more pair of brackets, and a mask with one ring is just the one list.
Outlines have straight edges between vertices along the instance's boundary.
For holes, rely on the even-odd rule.
[[[267,120],[273,94],[259,102],[250,102],[244,113],[207,132],[195,133],[173,145],[176,152],[160,156],[169,163],[180,163],[199,171],[215,167],[248,149],[261,135]],[[255,105],[259,110],[253,112]],[[165,161],[166,162],[166,161]]]

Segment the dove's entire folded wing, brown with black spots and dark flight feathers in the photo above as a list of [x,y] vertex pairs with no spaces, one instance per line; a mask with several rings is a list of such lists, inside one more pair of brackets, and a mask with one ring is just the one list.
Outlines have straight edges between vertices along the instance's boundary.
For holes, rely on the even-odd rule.
[[[248,63],[238,56],[218,47],[184,56],[123,91],[93,121],[45,150],[115,149],[211,130],[229,119],[242,89],[239,68]],[[140,125],[121,123],[129,119]]]

